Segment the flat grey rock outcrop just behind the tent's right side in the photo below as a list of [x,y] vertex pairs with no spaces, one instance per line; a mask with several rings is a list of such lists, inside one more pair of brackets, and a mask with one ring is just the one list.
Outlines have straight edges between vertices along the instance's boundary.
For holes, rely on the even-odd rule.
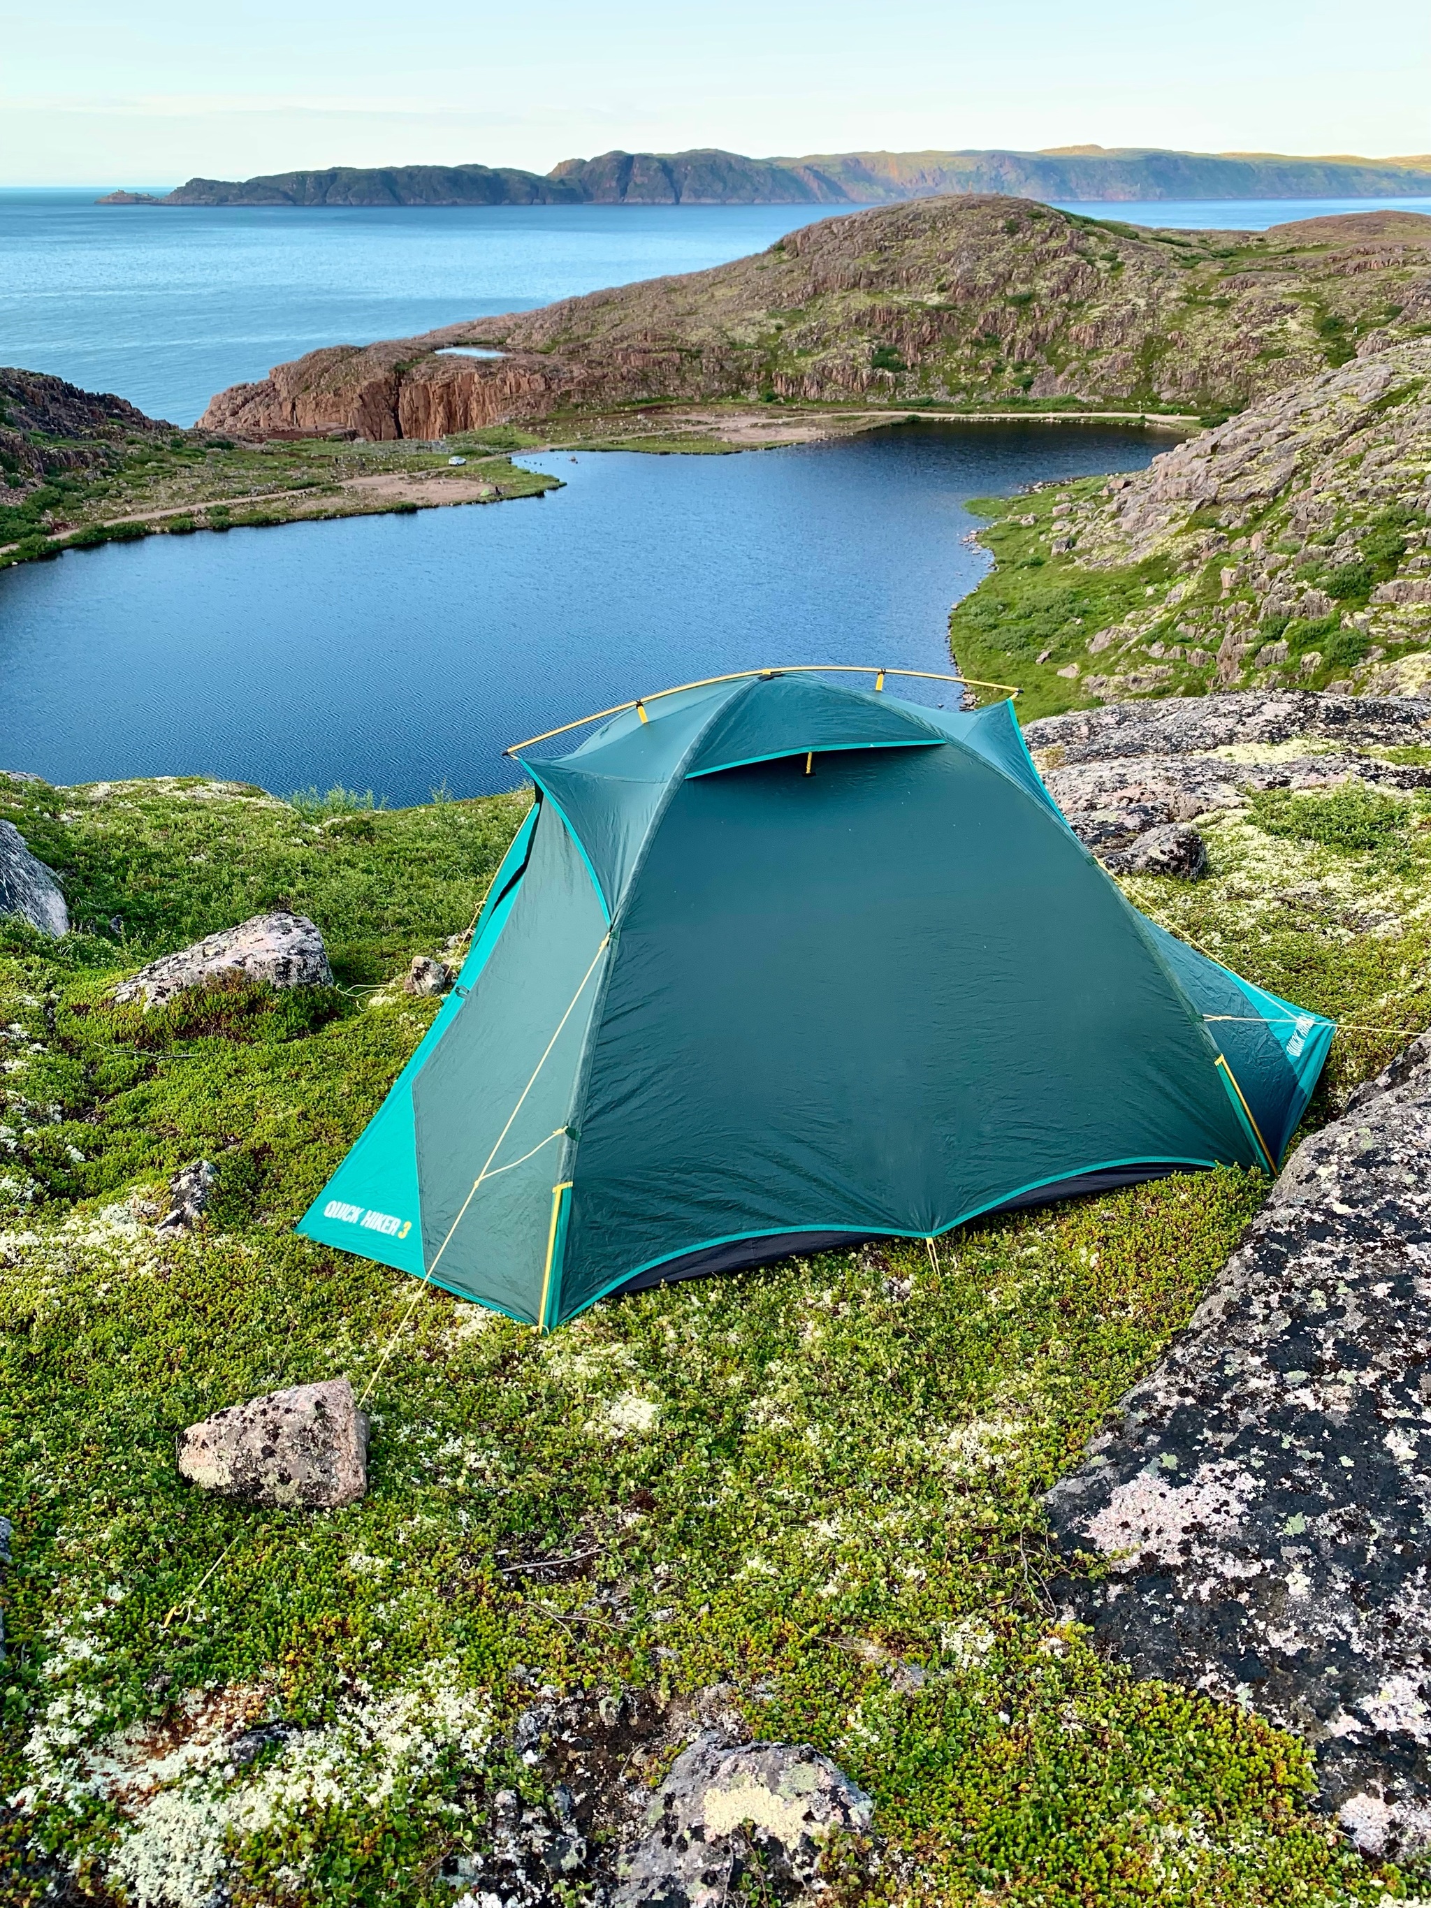
[[1376,754],[1431,744],[1431,700],[1418,698],[1282,691],[1114,702],[1046,716],[1025,740],[1074,834],[1118,874],[1196,878],[1206,857],[1187,824],[1261,790],[1431,788],[1431,765]]

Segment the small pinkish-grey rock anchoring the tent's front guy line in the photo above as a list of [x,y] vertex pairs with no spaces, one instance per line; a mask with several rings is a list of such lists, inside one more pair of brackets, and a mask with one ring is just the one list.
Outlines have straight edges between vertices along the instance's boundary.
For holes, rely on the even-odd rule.
[[271,1391],[179,1431],[179,1475],[271,1509],[355,1504],[368,1488],[368,1418],[345,1378]]

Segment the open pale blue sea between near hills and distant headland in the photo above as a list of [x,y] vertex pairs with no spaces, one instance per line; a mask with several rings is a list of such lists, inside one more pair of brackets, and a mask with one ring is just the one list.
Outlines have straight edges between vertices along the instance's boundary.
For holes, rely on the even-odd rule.
[[[819,206],[95,206],[0,191],[0,364],[193,424],[229,384],[368,343],[700,271],[828,216]],[[1089,218],[1265,227],[1431,198],[1078,204]],[[853,210],[853,208],[851,208]]]

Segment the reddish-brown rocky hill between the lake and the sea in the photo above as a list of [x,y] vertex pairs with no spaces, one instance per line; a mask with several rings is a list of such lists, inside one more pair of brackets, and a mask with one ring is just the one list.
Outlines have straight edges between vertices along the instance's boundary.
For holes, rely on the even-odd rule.
[[[309,353],[210,429],[437,437],[658,399],[1238,410],[1431,313],[1431,218],[1160,233],[1015,198],[822,219],[714,271]],[[502,359],[439,357],[448,345]]]

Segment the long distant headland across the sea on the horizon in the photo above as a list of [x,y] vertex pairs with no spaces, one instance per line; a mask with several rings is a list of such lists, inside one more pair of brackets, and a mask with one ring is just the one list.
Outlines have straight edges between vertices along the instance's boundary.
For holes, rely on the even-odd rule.
[[1431,155],[1297,158],[1070,145],[1040,153],[815,153],[746,158],[603,153],[548,174],[515,166],[324,166],[254,179],[189,179],[162,197],[107,193],[101,206],[872,206],[1000,193],[1044,200],[1416,198],[1431,197]]

